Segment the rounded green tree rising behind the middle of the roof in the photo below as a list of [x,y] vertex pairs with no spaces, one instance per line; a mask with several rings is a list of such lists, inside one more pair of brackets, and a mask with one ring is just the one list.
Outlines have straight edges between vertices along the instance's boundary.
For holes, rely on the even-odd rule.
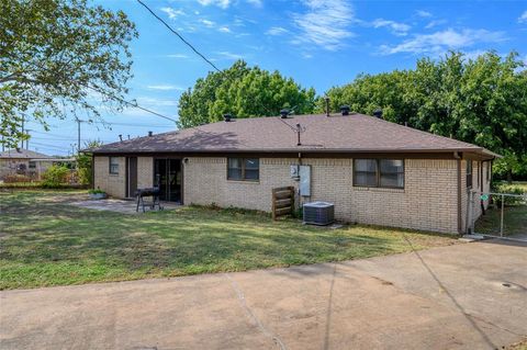
[[179,126],[191,127],[220,121],[223,114],[236,117],[278,115],[289,108],[295,114],[313,112],[315,90],[301,88],[278,71],[269,72],[243,60],[221,72],[198,79],[179,100]]

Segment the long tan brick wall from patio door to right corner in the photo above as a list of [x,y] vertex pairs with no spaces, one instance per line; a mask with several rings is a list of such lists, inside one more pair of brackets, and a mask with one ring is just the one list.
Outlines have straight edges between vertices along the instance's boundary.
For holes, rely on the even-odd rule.
[[[191,157],[184,165],[186,204],[271,208],[271,189],[294,185],[296,159],[260,159],[260,181],[227,181],[226,158]],[[352,187],[351,159],[302,159],[312,166],[312,196],[335,203],[337,219],[457,233],[456,160],[406,159],[405,189]]]

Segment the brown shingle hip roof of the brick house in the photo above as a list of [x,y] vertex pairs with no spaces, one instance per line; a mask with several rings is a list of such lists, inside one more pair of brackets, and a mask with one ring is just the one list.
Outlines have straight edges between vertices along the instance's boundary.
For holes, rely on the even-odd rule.
[[[285,125],[287,123],[288,125]],[[295,125],[302,146],[296,146]],[[363,114],[239,118],[104,145],[102,153],[474,151],[482,147]]]

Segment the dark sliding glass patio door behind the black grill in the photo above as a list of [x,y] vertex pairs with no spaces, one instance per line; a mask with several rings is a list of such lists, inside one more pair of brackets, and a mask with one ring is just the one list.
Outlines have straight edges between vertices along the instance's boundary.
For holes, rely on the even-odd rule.
[[156,159],[154,179],[161,201],[181,203],[181,159]]

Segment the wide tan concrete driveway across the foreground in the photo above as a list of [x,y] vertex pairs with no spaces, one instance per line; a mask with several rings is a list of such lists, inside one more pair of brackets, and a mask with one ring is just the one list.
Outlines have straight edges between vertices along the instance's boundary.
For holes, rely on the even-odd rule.
[[495,349],[527,335],[527,245],[7,291],[1,349]]

